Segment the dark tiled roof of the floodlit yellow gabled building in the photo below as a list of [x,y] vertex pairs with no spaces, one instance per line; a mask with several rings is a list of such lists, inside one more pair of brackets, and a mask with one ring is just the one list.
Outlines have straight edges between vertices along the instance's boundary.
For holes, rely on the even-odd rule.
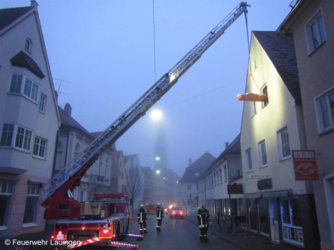
[[301,89],[292,35],[275,31],[253,31],[296,103],[301,103]]

